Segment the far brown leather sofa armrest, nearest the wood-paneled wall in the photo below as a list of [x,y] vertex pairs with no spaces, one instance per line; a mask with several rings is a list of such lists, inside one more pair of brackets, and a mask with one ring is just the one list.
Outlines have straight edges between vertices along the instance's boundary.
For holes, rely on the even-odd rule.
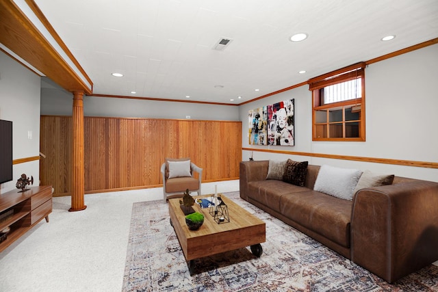
[[250,181],[264,181],[268,175],[269,161],[241,161],[240,162],[240,198],[247,200],[248,183]]

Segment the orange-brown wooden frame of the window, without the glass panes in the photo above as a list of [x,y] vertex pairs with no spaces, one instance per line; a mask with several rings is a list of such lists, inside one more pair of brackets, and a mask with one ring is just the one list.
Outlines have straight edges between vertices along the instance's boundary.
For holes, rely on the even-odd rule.
[[[361,78],[360,98],[327,104],[322,102],[322,96],[320,94],[322,88],[358,78]],[[309,79],[308,83],[309,90],[312,92],[312,141],[365,142],[365,62],[353,64],[345,68]],[[359,105],[359,120],[346,121],[345,110],[351,107],[357,107]],[[342,109],[342,122],[330,122],[329,118],[327,118],[326,122],[317,123],[316,113],[318,111],[327,111],[327,115],[329,115],[330,109]],[[346,124],[348,124],[348,122],[359,122],[359,137],[346,137]],[[330,128],[334,124],[342,124],[342,137],[329,136]],[[320,132],[318,132],[318,129],[321,129],[321,126],[323,127],[322,132],[326,133],[325,137],[324,135],[323,137],[319,135]]]

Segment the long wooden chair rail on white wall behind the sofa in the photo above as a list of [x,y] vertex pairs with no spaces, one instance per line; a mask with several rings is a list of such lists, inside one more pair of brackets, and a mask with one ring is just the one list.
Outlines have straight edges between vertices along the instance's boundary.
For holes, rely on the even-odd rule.
[[300,156],[320,157],[320,158],[329,158],[329,159],[362,161],[362,162],[370,162],[370,163],[394,164],[394,165],[403,165],[403,166],[413,166],[416,168],[438,168],[437,162],[429,162],[429,161],[411,161],[411,160],[402,160],[402,159],[359,157],[359,156],[334,155],[334,154],[311,153],[311,152],[296,152],[296,151],[272,150],[272,149],[242,148],[242,150],[279,153],[279,154],[285,154],[285,155],[300,155]]

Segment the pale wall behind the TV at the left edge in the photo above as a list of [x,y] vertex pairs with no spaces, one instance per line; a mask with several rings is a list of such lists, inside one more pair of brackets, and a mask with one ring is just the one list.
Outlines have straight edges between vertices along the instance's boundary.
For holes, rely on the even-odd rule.
[[[0,119],[12,120],[12,159],[39,155],[40,77],[1,51]],[[32,131],[32,139],[28,139],[28,131]],[[1,194],[15,189],[16,180],[23,173],[34,176],[34,185],[38,185],[39,161],[14,165],[13,180],[0,186]]]

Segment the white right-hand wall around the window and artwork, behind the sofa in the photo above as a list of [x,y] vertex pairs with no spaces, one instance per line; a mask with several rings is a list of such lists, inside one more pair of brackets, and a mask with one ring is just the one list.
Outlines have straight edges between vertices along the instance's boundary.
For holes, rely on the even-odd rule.
[[[438,44],[368,66],[365,69],[366,142],[312,142],[311,92],[307,85],[242,105],[242,146],[437,163],[437,80]],[[290,98],[295,98],[296,146],[249,146],[248,110]],[[243,151],[242,158],[248,160],[248,157],[250,151]],[[287,158],[438,181],[438,169],[254,152],[255,160]]]

